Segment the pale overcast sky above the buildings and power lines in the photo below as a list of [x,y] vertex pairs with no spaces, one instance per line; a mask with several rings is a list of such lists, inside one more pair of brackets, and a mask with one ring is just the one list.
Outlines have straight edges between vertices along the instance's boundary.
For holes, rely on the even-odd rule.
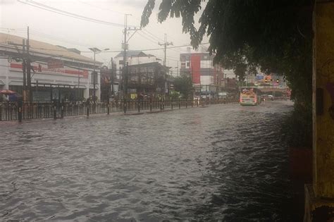
[[[22,1],[22,2],[20,2]],[[27,26],[30,27],[30,38],[63,47],[74,47],[80,51],[89,51],[89,47],[99,49],[109,48],[120,51],[123,40],[124,13],[128,16],[128,25],[140,26],[140,17],[147,0],[0,0],[0,32],[26,37]],[[25,3],[34,4],[30,6]],[[36,6],[47,5],[80,16],[108,21],[115,25],[104,25],[87,20],[80,20],[46,11]],[[129,41],[131,49],[159,48],[158,42],[163,42],[164,33],[168,42],[174,46],[190,44],[189,34],[183,34],[181,18],[169,18],[164,23],[157,22],[156,1],[155,11],[150,23],[142,31],[138,31]],[[197,17],[198,20],[198,17]],[[11,30],[8,30],[11,29]],[[130,32],[131,35],[132,32]],[[203,42],[207,42],[204,39]],[[186,47],[167,50],[167,66],[178,66],[179,54],[186,52]],[[163,58],[163,51],[147,51]],[[118,53],[97,54],[98,61],[108,64],[111,57]],[[92,53],[82,52],[82,55],[92,58]]]

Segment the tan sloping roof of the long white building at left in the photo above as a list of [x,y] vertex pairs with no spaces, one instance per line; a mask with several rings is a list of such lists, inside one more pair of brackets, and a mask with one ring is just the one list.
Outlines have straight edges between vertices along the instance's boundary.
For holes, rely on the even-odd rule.
[[[25,39],[23,37],[18,37],[16,35],[8,35],[6,33],[0,32],[0,46],[13,48],[13,45],[8,44],[8,42],[13,42],[14,44],[22,44],[22,40]],[[18,47],[22,50],[22,47]],[[76,54],[73,51],[68,51],[68,49],[64,47],[58,47],[53,44],[49,44],[46,42],[39,42],[30,38],[30,51],[47,54],[51,56],[62,56],[63,58],[70,58],[79,61],[86,61],[89,63],[94,63],[92,58],[87,58],[86,56],[82,56],[80,54]],[[100,61],[96,61],[96,63],[101,63]]]

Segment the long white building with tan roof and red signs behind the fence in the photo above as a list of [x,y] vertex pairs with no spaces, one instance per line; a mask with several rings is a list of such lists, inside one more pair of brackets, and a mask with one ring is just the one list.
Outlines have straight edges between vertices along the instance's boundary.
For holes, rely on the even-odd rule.
[[[27,58],[27,54],[23,56],[23,37],[0,33],[0,42],[0,90],[23,94],[23,58]],[[99,70],[102,63],[82,56],[78,49],[30,39],[29,58],[32,101],[77,100],[93,94],[92,71]],[[99,73],[97,75],[95,94],[99,98]]]

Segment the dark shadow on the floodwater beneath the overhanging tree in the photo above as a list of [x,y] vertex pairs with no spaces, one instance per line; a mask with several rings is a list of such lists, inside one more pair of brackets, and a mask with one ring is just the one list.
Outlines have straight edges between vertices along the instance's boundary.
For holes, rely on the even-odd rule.
[[284,115],[243,117],[232,132],[222,125],[211,133],[215,140],[204,180],[218,189],[190,211],[203,221],[293,221],[287,147],[279,134]]

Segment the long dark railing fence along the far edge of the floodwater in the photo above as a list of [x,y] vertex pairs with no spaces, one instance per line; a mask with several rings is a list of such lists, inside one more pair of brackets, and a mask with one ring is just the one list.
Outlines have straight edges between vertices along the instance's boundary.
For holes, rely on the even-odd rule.
[[[228,104],[235,99],[169,99],[169,100],[117,100],[117,101],[66,101],[66,102],[0,102],[0,121],[20,121],[37,118],[64,118],[123,111],[154,111],[181,109],[209,104]],[[21,115],[20,115],[21,113]],[[22,116],[22,117],[20,117]]]

